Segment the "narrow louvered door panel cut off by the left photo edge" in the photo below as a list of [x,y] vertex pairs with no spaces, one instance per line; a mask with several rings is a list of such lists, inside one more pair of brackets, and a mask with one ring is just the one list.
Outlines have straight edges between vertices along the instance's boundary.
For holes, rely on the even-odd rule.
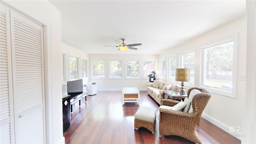
[[[11,143],[11,113],[10,102],[12,101],[12,77],[11,74],[11,51],[7,48],[7,27],[9,11],[0,7],[0,144]],[[10,40],[10,37],[9,37]],[[10,100],[11,99],[11,100]],[[13,119],[13,117],[12,117]],[[14,122],[14,121],[13,121]]]

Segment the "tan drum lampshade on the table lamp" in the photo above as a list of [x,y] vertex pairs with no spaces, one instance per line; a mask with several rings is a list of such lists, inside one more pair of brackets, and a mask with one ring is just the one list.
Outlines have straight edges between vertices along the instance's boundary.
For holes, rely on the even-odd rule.
[[175,80],[179,82],[189,82],[190,68],[176,68]]

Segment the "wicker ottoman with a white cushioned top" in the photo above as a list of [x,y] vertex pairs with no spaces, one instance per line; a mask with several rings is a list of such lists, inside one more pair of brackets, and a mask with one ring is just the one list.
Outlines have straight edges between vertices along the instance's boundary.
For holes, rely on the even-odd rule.
[[140,106],[134,115],[134,130],[144,127],[154,134],[156,125],[156,108]]

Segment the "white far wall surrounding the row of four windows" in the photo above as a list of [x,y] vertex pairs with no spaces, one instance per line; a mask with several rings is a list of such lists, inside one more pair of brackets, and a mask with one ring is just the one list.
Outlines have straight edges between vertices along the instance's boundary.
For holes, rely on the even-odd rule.
[[[92,60],[94,59],[104,59],[106,60],[106,78],[99,79],[99,78],[93,78],[92,77]],[[122,91],[123,87],[137,87],[138,90],[147,90],[147,83],[148,83],[148,77],[142,78],[134,78],[134,79],[127,79],[124,77],[125,73],[123,73],[122,79],[113,79],[108,78],[109,77],[109,60],[122,60],[125,67],[125,60],[139,60],[140,65],[140,74],[142,73],[142,60],[148,60],[148,59],[156,59],[156,63],[158,63],[158,55],[137,55],[137,54],[97,54],[93,55],[91,54],[89,56],[89,82],[96,82],[98,91]],[[156,68],[158,68],[158,65],[156,64]]]

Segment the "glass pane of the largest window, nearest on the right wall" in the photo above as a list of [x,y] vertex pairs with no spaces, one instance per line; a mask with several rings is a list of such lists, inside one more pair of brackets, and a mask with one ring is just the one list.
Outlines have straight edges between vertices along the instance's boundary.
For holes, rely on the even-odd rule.
[[232,41],[204,49],[204,85],[232,90],[233,46]]

